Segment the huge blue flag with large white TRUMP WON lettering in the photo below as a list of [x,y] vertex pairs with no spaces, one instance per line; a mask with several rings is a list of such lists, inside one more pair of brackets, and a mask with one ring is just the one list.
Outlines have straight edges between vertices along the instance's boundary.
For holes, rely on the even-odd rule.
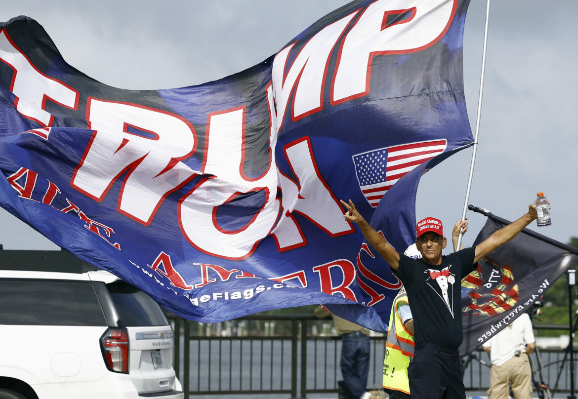
[[467,5],[354,1],[253,68],[149,91],[91,79],[13,18],[1,206],[188,319],[322,303],[384,331],[400,283],[339,199],[414,241],[420,177],[472,143]]

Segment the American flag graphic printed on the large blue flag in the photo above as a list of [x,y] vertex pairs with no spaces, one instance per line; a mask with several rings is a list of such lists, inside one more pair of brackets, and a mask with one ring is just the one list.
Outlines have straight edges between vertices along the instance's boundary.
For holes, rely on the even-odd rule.
[[447,140],[419,141],[353,155],[361,191],[372,207],[392,185],[414,167],[442,154]]

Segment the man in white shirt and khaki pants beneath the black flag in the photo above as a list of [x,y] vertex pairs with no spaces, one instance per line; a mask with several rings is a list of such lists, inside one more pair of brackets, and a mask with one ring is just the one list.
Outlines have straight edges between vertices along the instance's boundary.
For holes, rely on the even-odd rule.
[[490,399],[506,399],[510,382],[516,399],[532,399],[532,370],[528,355],[536,348],[532,322],[527,313],[518,317],[491,340],[484,342],[490,353]]

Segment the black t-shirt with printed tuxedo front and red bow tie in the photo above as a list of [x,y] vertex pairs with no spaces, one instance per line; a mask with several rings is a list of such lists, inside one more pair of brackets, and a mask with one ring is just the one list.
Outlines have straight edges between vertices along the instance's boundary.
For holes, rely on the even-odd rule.
[[442,264],[436,266],[399,254],[399,269],[394,274],[407,291],[416,344],[457,348],[464,340],[461,280],[474,270],[475,252],[472,247],[444,255]]

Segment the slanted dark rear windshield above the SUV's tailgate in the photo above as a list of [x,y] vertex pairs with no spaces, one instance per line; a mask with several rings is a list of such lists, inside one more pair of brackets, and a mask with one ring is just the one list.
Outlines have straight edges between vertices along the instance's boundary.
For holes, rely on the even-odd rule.
[[123,327],[166,326],[160,306],[140,289],[124,281],[107,284]]

